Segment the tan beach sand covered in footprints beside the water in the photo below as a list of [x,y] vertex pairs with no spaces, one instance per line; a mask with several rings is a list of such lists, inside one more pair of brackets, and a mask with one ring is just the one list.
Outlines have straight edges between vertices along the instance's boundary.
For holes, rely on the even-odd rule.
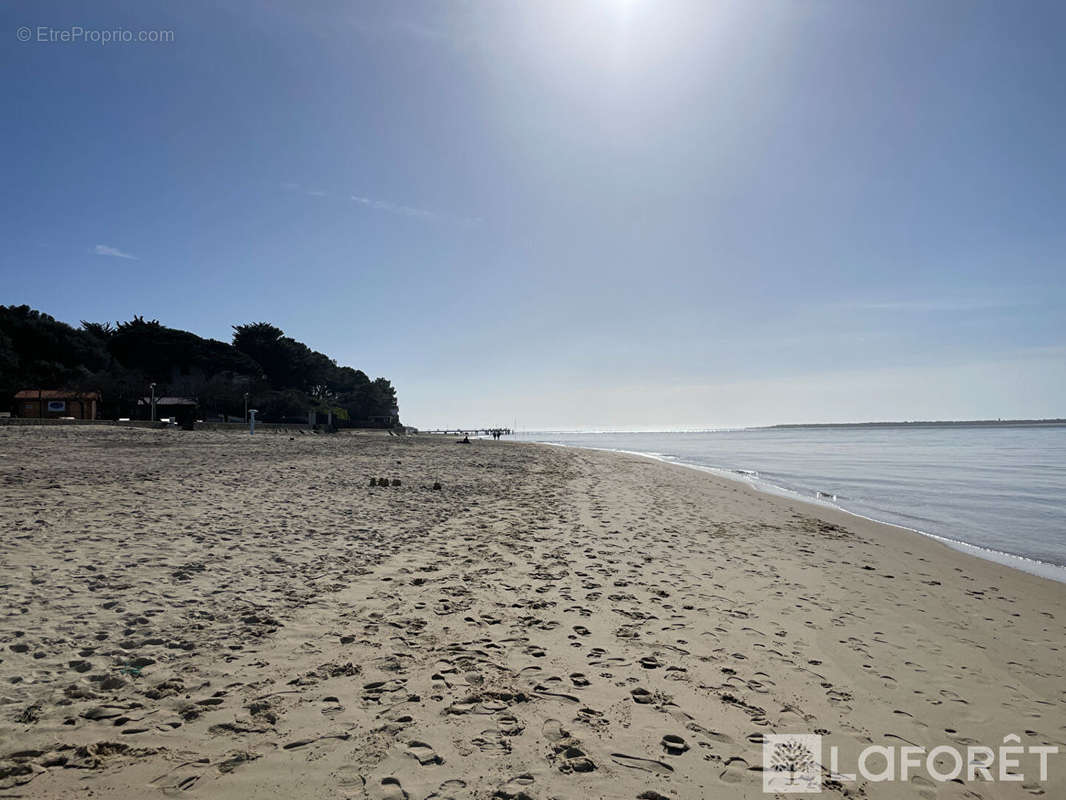
[[[0,797],[756,798],[776,733],[850,772],[1066,753],[1066,586],[639,457],[0,428]],[[823,794],[1063,798],[1063,753]]]

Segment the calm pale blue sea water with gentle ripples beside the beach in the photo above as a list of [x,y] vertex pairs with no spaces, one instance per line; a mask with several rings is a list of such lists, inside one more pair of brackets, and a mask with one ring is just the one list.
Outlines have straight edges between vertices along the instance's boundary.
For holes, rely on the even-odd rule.
[[710,469],[1066,581],[1066,426],[531,431],[519,438]]

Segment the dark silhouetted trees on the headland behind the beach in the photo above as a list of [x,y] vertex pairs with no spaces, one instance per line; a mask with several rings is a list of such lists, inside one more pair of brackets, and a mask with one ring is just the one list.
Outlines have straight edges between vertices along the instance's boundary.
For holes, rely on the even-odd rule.
[[29,306],[0,305],[0,411],[19,389],[101,395],[102,418],[144,416],[138,400],[195,398],[200,418],[242,417],[245,394],[259,418],[307,419],[332,411],[343,425],[397,422],[392,384],[342,367],[268,322],[233,325],[232,341],[205,339],[158,320],[74,327]]

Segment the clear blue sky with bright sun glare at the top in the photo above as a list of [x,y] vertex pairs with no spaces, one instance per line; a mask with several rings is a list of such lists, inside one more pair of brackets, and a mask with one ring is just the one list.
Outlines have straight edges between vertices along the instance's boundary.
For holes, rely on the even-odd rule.
[[0,303],[270,321],[420,428],[1066,416],[1064,28],[9,0]]

